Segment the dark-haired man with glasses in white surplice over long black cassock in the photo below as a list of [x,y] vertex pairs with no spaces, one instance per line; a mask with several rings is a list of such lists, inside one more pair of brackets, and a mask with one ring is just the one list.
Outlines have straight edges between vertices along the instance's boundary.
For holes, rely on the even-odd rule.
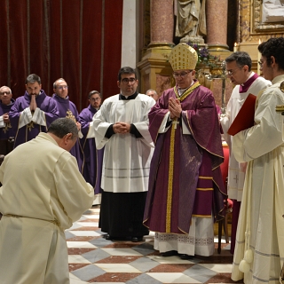
[[106,239],[142,241],[142,224],[154,144],[148,113],[154,99],[137,91],[135,69],[122,67],[120,94],[107,98],[93,118],[96,146],[105,146],[99,227]]

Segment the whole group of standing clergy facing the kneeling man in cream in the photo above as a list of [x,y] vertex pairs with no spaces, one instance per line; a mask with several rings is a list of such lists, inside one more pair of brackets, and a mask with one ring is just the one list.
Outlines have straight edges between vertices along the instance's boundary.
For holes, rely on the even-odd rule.
[[[0,154],[47,132],[59,117],[71,119],[79,139],[70,154],[101,194],[99,227],[107,240],[138,242],[153,231],[164,257],[211,256],[214,223],[230,199],[232,279],[277,283],[284,259],[283,50],[283,37],[258,46],[263,76],[251,70],[247,52],[225,59],[235,87],[222,114],[212,91],[195,79],[198,55],[185,43],[170,53],[176,85],[160,97],[152,89],[138,93],[136,70],[122,67],[120,92],[102,103],[91,91],[80,114],[63,78],[49,97],[40,77],[28,75],[16,100],[9,87],[0,88]],[[229,135],[249,94],[256,99],[254,123]],[[225,143],[227,182],[220,167]]]

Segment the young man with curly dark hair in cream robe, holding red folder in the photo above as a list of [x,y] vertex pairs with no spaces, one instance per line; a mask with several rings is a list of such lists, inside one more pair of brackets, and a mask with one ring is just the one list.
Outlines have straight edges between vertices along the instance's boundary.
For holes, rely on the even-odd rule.
[[255,125],[233,136],[236,160],[248,165],[232,279],[279,283],[284,259],[284,38],[270,38],[258,51],[272,86],[257,95]]

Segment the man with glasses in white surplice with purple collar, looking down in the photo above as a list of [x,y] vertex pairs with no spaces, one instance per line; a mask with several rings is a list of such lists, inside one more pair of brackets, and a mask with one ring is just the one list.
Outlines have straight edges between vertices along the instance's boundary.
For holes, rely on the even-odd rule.
[[225,59],[226,75],[236,86],[233,88],[231,98],[226,106],[225,114],[221,114],[220,122],[224,130],[224,138],[230,148],[228,170],[228,197],[233,201],[233,219],[231,233],[231,253],[235,246],[235,236],[238,225],[238,217],[241,207],[242,188],[245,180],[246,163],[236,161],[232,151],[232,136],[227,134],[241,106],[247,99],[248,94],[255,96],[272,83],[251,71],[251,59],[247,52],[233,52]]

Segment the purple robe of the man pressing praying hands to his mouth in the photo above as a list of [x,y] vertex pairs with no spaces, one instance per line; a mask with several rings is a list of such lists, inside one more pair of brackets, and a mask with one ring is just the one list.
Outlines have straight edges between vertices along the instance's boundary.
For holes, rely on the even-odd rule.
[[16,99],[9,113],[12,127],[16,130],[14,147],[36,138],[39,132],[46,132],[51,122],[59,118],[59,111],[54,99],[48,97],[45,92],[41,90],[40,95],[36,97],[36,106],[44,112],[46,127],[35,122],[29,122],[19,129],[20,114],[25,108],[29,107],[29,105],[30,96],[28,95],[28,91],[26,91],[24,96]]

